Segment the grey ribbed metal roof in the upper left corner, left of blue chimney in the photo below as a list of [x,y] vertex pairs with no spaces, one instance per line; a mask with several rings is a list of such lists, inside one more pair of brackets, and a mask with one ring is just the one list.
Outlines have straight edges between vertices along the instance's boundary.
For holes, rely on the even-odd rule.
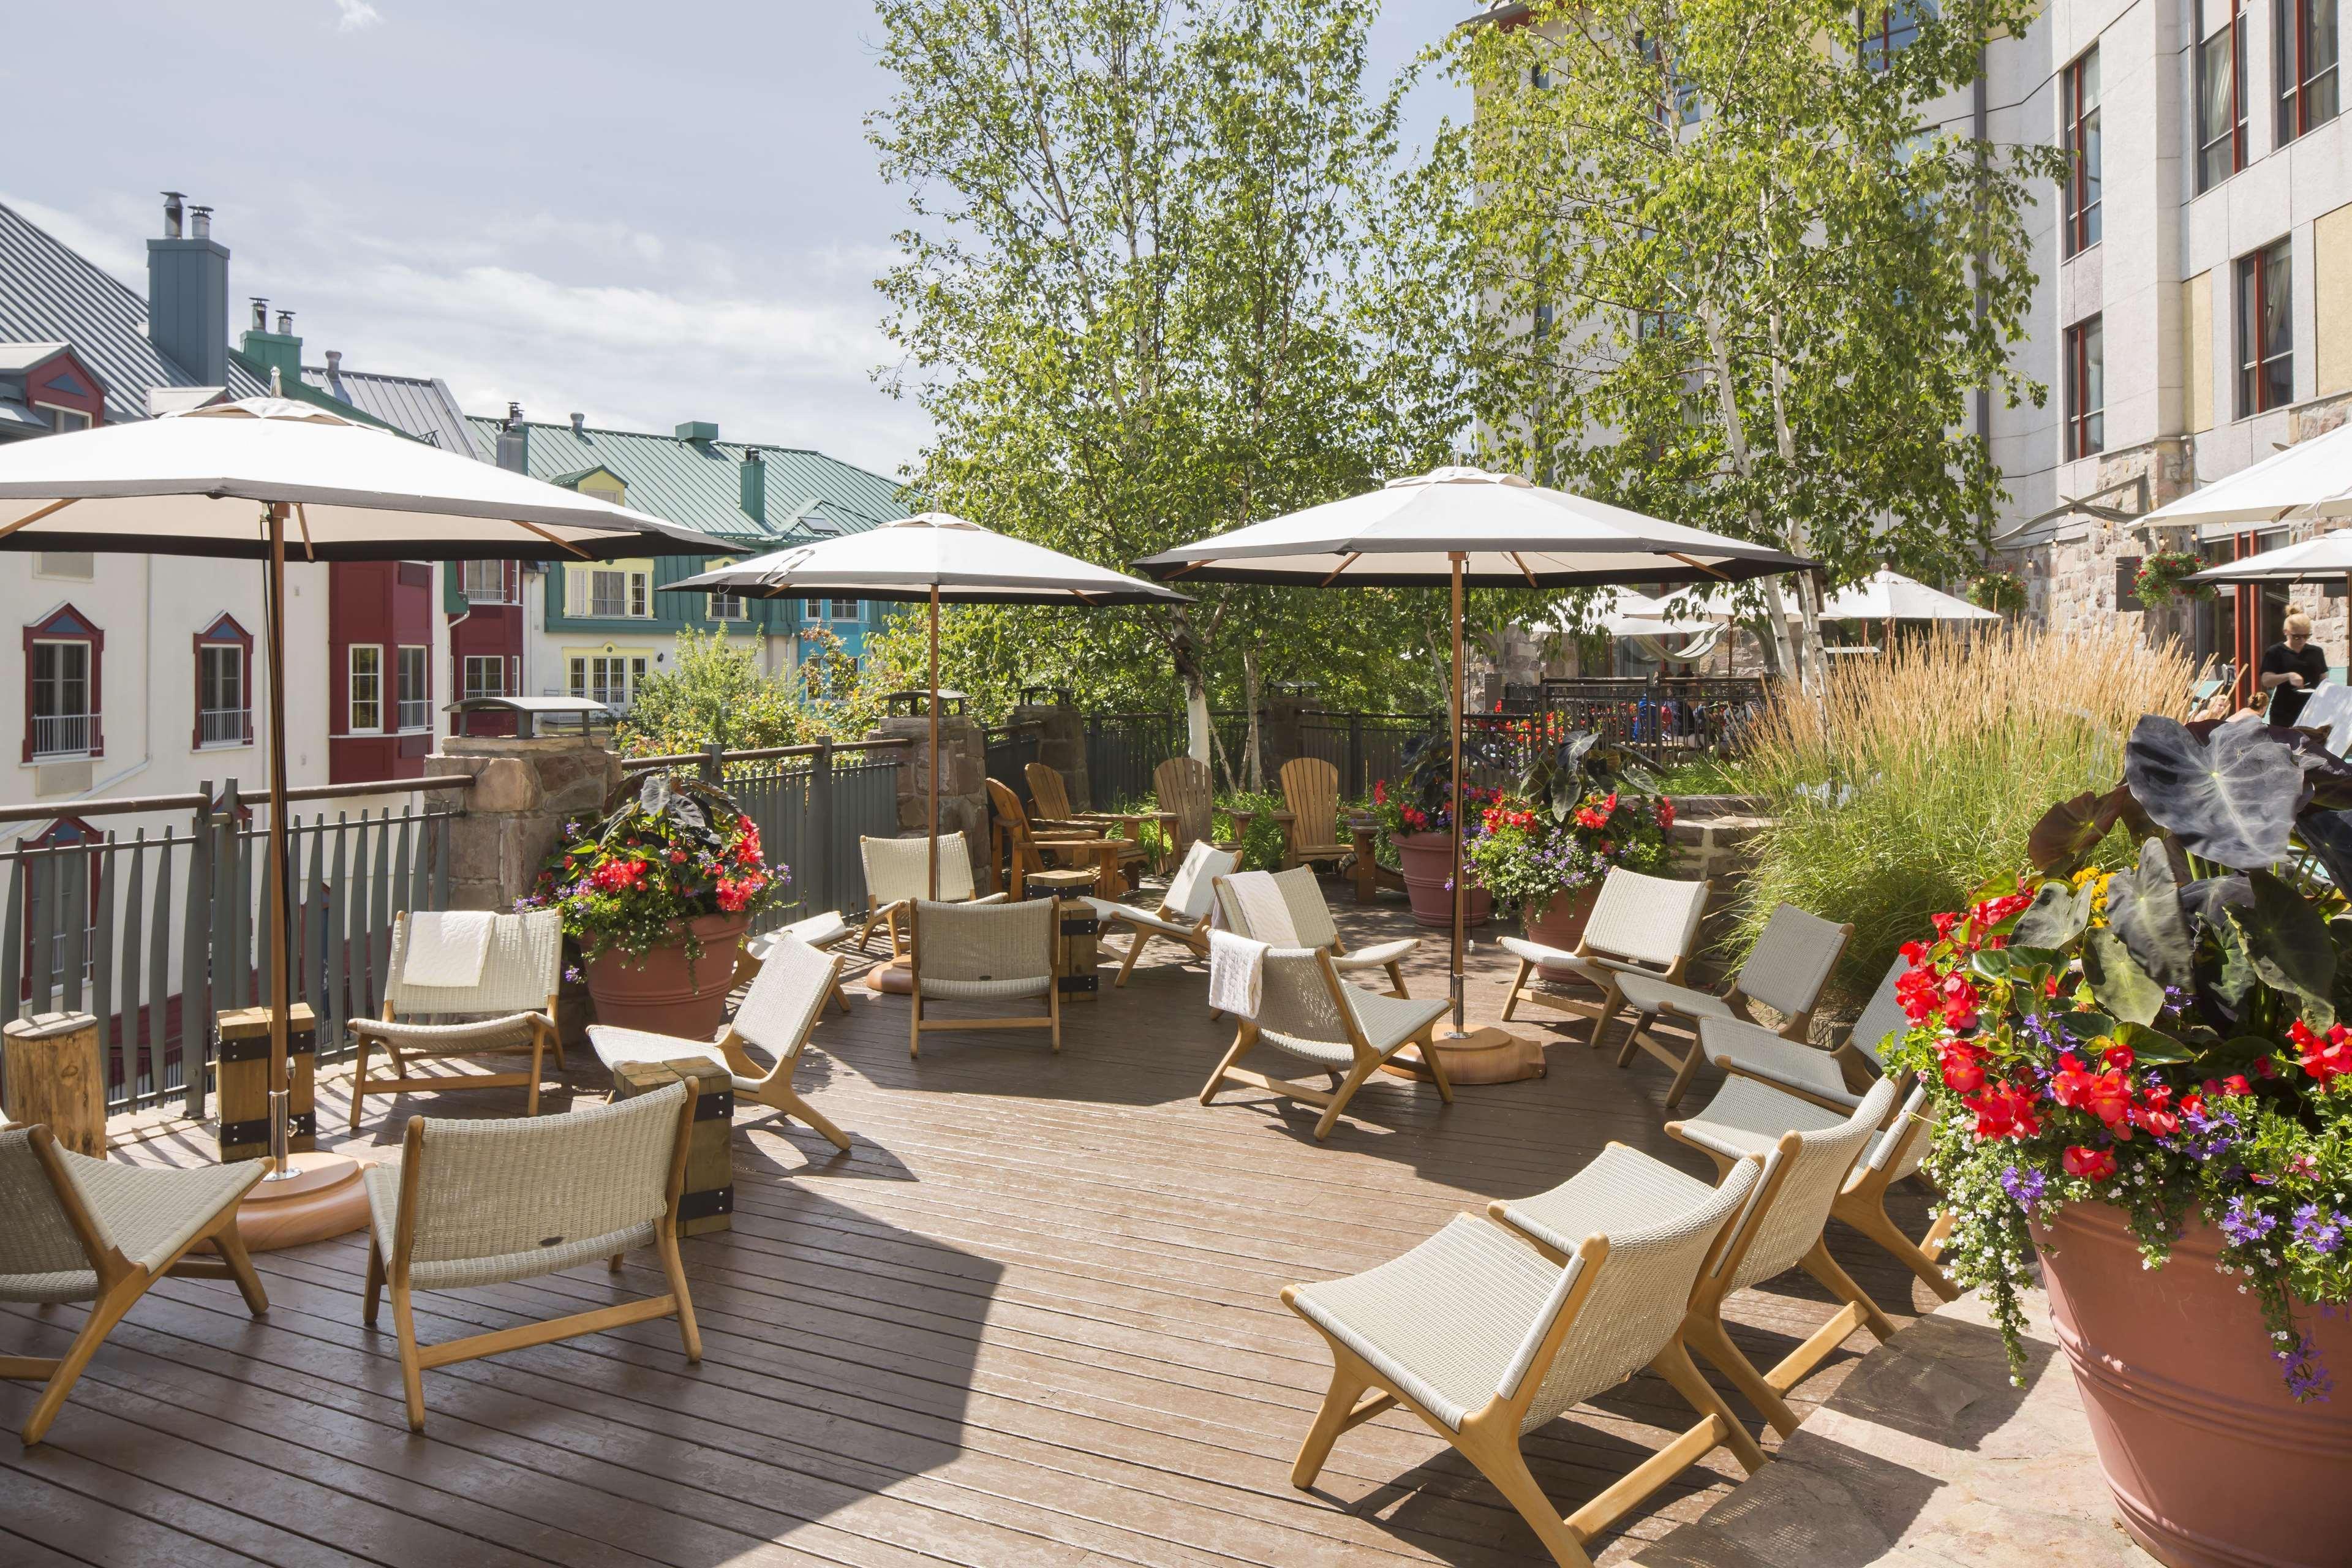
[[[198,386],[146,336],[146,296],[0,202],[0,341],[71,343],[106,383],[106,418],[146,418],[148,388]],[[228,367],[230,397],[268,386]]]

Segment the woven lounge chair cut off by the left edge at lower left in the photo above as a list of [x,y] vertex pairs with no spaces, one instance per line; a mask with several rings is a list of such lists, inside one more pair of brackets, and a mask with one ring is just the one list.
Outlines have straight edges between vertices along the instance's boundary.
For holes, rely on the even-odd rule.
[[[49,1432],[122,1314],[165,1274],[233,1279],[247,1312],[270,1309],[238,1237],[238,1199],[263,1171],[259,1159],[155,1171],[61,1150],[45,1126],[0,1131],[0,1302],[89,1302],[64,1356],[0,1356],[0,1378],[47,1382],[24,1422],[26,1448]],[[202,1241],[219,1258],[191,1258]]]

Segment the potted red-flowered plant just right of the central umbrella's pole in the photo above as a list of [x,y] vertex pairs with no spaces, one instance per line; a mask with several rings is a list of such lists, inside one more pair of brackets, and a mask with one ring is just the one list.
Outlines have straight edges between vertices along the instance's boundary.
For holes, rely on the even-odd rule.
[[[1665,863],[1675,802],[1597,731],[1538,748],[1517,788],[1484,809],[1470,863],[1479,886],[1519,912],[1529,940],[1573,950],[1611,865],[1649,872]],[[1541,966],[1548,980],[1569,971]]]

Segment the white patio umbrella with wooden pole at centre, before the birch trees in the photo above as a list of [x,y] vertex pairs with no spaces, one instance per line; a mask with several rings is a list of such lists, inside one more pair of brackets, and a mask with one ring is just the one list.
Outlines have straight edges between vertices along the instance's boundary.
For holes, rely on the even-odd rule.
[[1437,468],[1376,491],[1254,522],[1136,562],[1162,581],[1454,590],[1454,1048],[1510,1046],[1463,1034],[1463,590],[1731,583],[1813,562],[1703,534],[1484,468]]

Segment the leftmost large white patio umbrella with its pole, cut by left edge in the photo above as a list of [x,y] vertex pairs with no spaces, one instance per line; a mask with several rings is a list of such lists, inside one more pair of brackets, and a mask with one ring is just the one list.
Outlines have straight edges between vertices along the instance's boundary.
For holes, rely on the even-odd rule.
[[[614,559],[727,555],[736,548],[285,397],[249,397],[0,449],[0,550],[216,555],[266,564],[268,886],[278,940],[268,999],[273,1178],[294,1175],[285,1157],[292,997],[287,550],[313,562],[369,562]],[[334,1164],[339,1157],[315,1159]]]

